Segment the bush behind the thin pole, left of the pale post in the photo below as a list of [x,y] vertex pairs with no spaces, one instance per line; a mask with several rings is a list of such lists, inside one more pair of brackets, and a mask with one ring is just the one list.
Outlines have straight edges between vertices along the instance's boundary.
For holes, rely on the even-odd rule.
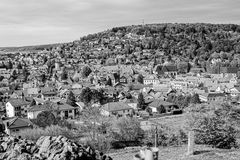
[[[155,143],[156,129],[152,128],[147,131],[144,137],[144,143],[146,145],[153,145]],[[174,130],[167,126],[161,125],[157,128],[158,146],[178,146],[187,142],[187,135],[183,130]]]

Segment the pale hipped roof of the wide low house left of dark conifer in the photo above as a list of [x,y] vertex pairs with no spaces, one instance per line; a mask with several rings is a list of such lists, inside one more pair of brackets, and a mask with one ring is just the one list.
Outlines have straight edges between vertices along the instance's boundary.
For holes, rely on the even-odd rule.
[[127,110],[127,109],[132,109],[129,105],[123,102],[110,102],[105,104],[102,109],[109,111],[109,112],[114,112],[114,111],[121,111],[121,110]]

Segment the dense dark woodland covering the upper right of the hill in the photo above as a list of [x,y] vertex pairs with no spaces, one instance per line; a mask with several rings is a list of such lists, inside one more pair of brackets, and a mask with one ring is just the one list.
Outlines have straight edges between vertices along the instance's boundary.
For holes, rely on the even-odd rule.
[[[240,53],[240,26],[234,24],[152,24],[116,27],[106,32],[90,34],[81,40],[102,42],[103,38],[121,38],[128,33],[144,35],[145,38],[120,44],[114,42],[114,45],[117,43],[124,46],[125,54],[131,54],[138,49],[154,49],[164,51],[166,55],[181,56],[189,60],[196,57],[208,60],[217,56],[231,60],[233,54]],[[113,44],[109,47],[111,45]]]

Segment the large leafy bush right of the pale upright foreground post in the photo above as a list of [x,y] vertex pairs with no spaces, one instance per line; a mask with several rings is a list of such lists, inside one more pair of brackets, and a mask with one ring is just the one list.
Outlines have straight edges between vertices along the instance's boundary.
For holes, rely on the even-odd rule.
[[196,143],[224,149],[237,147],[239,113],[232,106],[198,105],[188,112],[188,125],[196,131]]

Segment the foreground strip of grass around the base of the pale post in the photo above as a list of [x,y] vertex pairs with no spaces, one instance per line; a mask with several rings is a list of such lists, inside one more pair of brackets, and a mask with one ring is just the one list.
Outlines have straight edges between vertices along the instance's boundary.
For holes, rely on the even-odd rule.
[[[119,151],[109,154],[114,160],[132,160],[139,149]],[[159,160],[239,160],[240,150],[214,149],[208,146],[195,146],[195,153],[192,156],[186,156],[187,146],[178,147],[159,147]]]

